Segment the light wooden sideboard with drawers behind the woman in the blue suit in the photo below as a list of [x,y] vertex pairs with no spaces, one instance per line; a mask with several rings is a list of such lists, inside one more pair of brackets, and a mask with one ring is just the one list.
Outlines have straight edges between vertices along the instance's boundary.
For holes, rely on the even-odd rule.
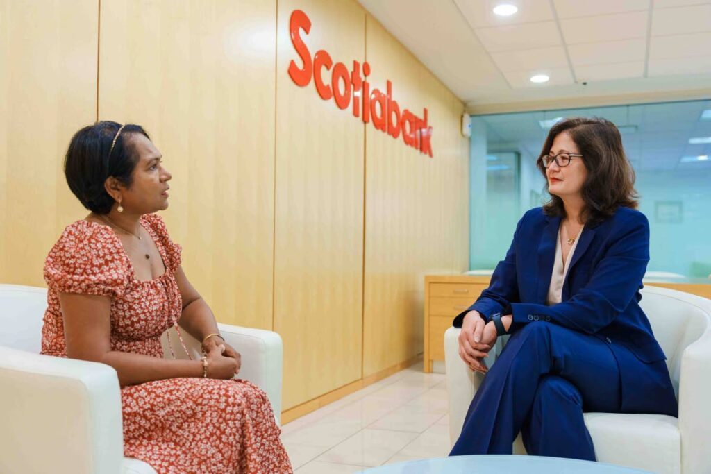
[[[451,320],[469,308],[489,284],[488,276],[427,275],[424,277],[424,372],[444,360],[444,331]],[[711,299],[711,284],[645,282]]]

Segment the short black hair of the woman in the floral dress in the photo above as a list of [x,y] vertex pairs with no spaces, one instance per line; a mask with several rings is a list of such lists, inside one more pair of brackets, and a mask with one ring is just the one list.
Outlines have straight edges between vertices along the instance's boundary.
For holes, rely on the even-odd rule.
[[112,150],[120,128],[120,124],[108,120],[85,126],[72,137],[64,159],[64,176],[70,190],[85,208],[97,214],[107,214],[114,205],[104,188],[109,176],[125,186],[132,185],[139,156],[131,136],[141,134],[150,140],[142,126],[126,124]]

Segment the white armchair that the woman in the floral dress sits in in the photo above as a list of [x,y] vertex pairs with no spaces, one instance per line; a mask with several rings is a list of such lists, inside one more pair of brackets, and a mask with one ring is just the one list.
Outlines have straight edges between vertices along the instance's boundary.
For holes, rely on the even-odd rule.
[[[46,289],[0,284],[0,473],[155,474],[124,458],[116,371],[39,354],[46,306]],[[267,330],[219,327],[242,354],[239,377],[267,393],[278,422],[282,339]],[[200,343],[184,333],[198,355]]]

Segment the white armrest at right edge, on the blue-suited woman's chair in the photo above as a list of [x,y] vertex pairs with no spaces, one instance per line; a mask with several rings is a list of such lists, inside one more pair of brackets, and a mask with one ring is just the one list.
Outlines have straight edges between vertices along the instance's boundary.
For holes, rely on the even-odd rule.
[[685,474],[706,473],[711,466],[711,326],[681,357],[679,431]]

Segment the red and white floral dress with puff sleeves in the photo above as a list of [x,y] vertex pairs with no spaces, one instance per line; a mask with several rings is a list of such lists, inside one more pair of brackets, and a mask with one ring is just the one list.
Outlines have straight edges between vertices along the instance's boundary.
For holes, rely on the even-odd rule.
[[[111,298],[111,348],[163,357],[160,336],[181,316],[175,272],[181,247],[158,215],[141,225],[153,237],[166,271],[138,281],[119,238],[105,225],[80,220],[69,225],[50,251],[44,269],[48,308],[42,353],[66,357],[58,293]],[[182,348],[173,341],[173,348]],[[240,348],[235,348],[239,351]],[[149,463],[159,473],[291,473],[279,441],[272,406],[245,380],[179,378],[121,389],[124,456]]]

